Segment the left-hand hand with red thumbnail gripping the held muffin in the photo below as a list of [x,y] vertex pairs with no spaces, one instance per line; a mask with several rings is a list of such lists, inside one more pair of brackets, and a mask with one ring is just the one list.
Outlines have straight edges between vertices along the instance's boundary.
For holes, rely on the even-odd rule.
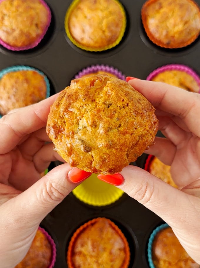
[[[43,218],[91,173],[64,163],[46,134],[50,105],[58,94],[0,119],[0,263],[11,268],[26,255]],[[49,142],[49,143],[47,143]],[[64,161],[63,161],[64,162]]]

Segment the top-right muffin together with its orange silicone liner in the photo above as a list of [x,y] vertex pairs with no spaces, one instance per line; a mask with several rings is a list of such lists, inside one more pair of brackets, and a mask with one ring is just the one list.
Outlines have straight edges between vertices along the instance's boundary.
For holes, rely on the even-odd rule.
[[160,47],[185,47],[200,33],[200,9],[192,0],[148,0],[141,18],[147,36]]

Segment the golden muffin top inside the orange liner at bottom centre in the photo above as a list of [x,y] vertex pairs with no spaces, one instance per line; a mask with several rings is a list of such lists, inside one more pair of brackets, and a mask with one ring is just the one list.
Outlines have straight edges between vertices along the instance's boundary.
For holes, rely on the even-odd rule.
[[73,248],[74,268],[121,268],[126,258],[124,241],[106,218],[82,231]]

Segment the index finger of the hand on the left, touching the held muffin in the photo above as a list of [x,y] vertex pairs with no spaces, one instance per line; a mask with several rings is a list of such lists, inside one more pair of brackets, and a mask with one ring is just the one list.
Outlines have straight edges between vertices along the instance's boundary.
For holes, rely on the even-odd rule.
[[0,154],[12,150],[27,134],[46,126],[51,104],[59,93],[30,106],[19,108],[0,119]]

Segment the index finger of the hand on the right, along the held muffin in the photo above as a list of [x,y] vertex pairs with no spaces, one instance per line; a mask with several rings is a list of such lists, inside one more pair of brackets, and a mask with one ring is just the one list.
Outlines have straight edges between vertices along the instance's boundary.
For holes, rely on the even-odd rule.
[[180,117],[188,129],[200,136],[200,94],[161,82],[129,80],[129,84],[162,111]]

